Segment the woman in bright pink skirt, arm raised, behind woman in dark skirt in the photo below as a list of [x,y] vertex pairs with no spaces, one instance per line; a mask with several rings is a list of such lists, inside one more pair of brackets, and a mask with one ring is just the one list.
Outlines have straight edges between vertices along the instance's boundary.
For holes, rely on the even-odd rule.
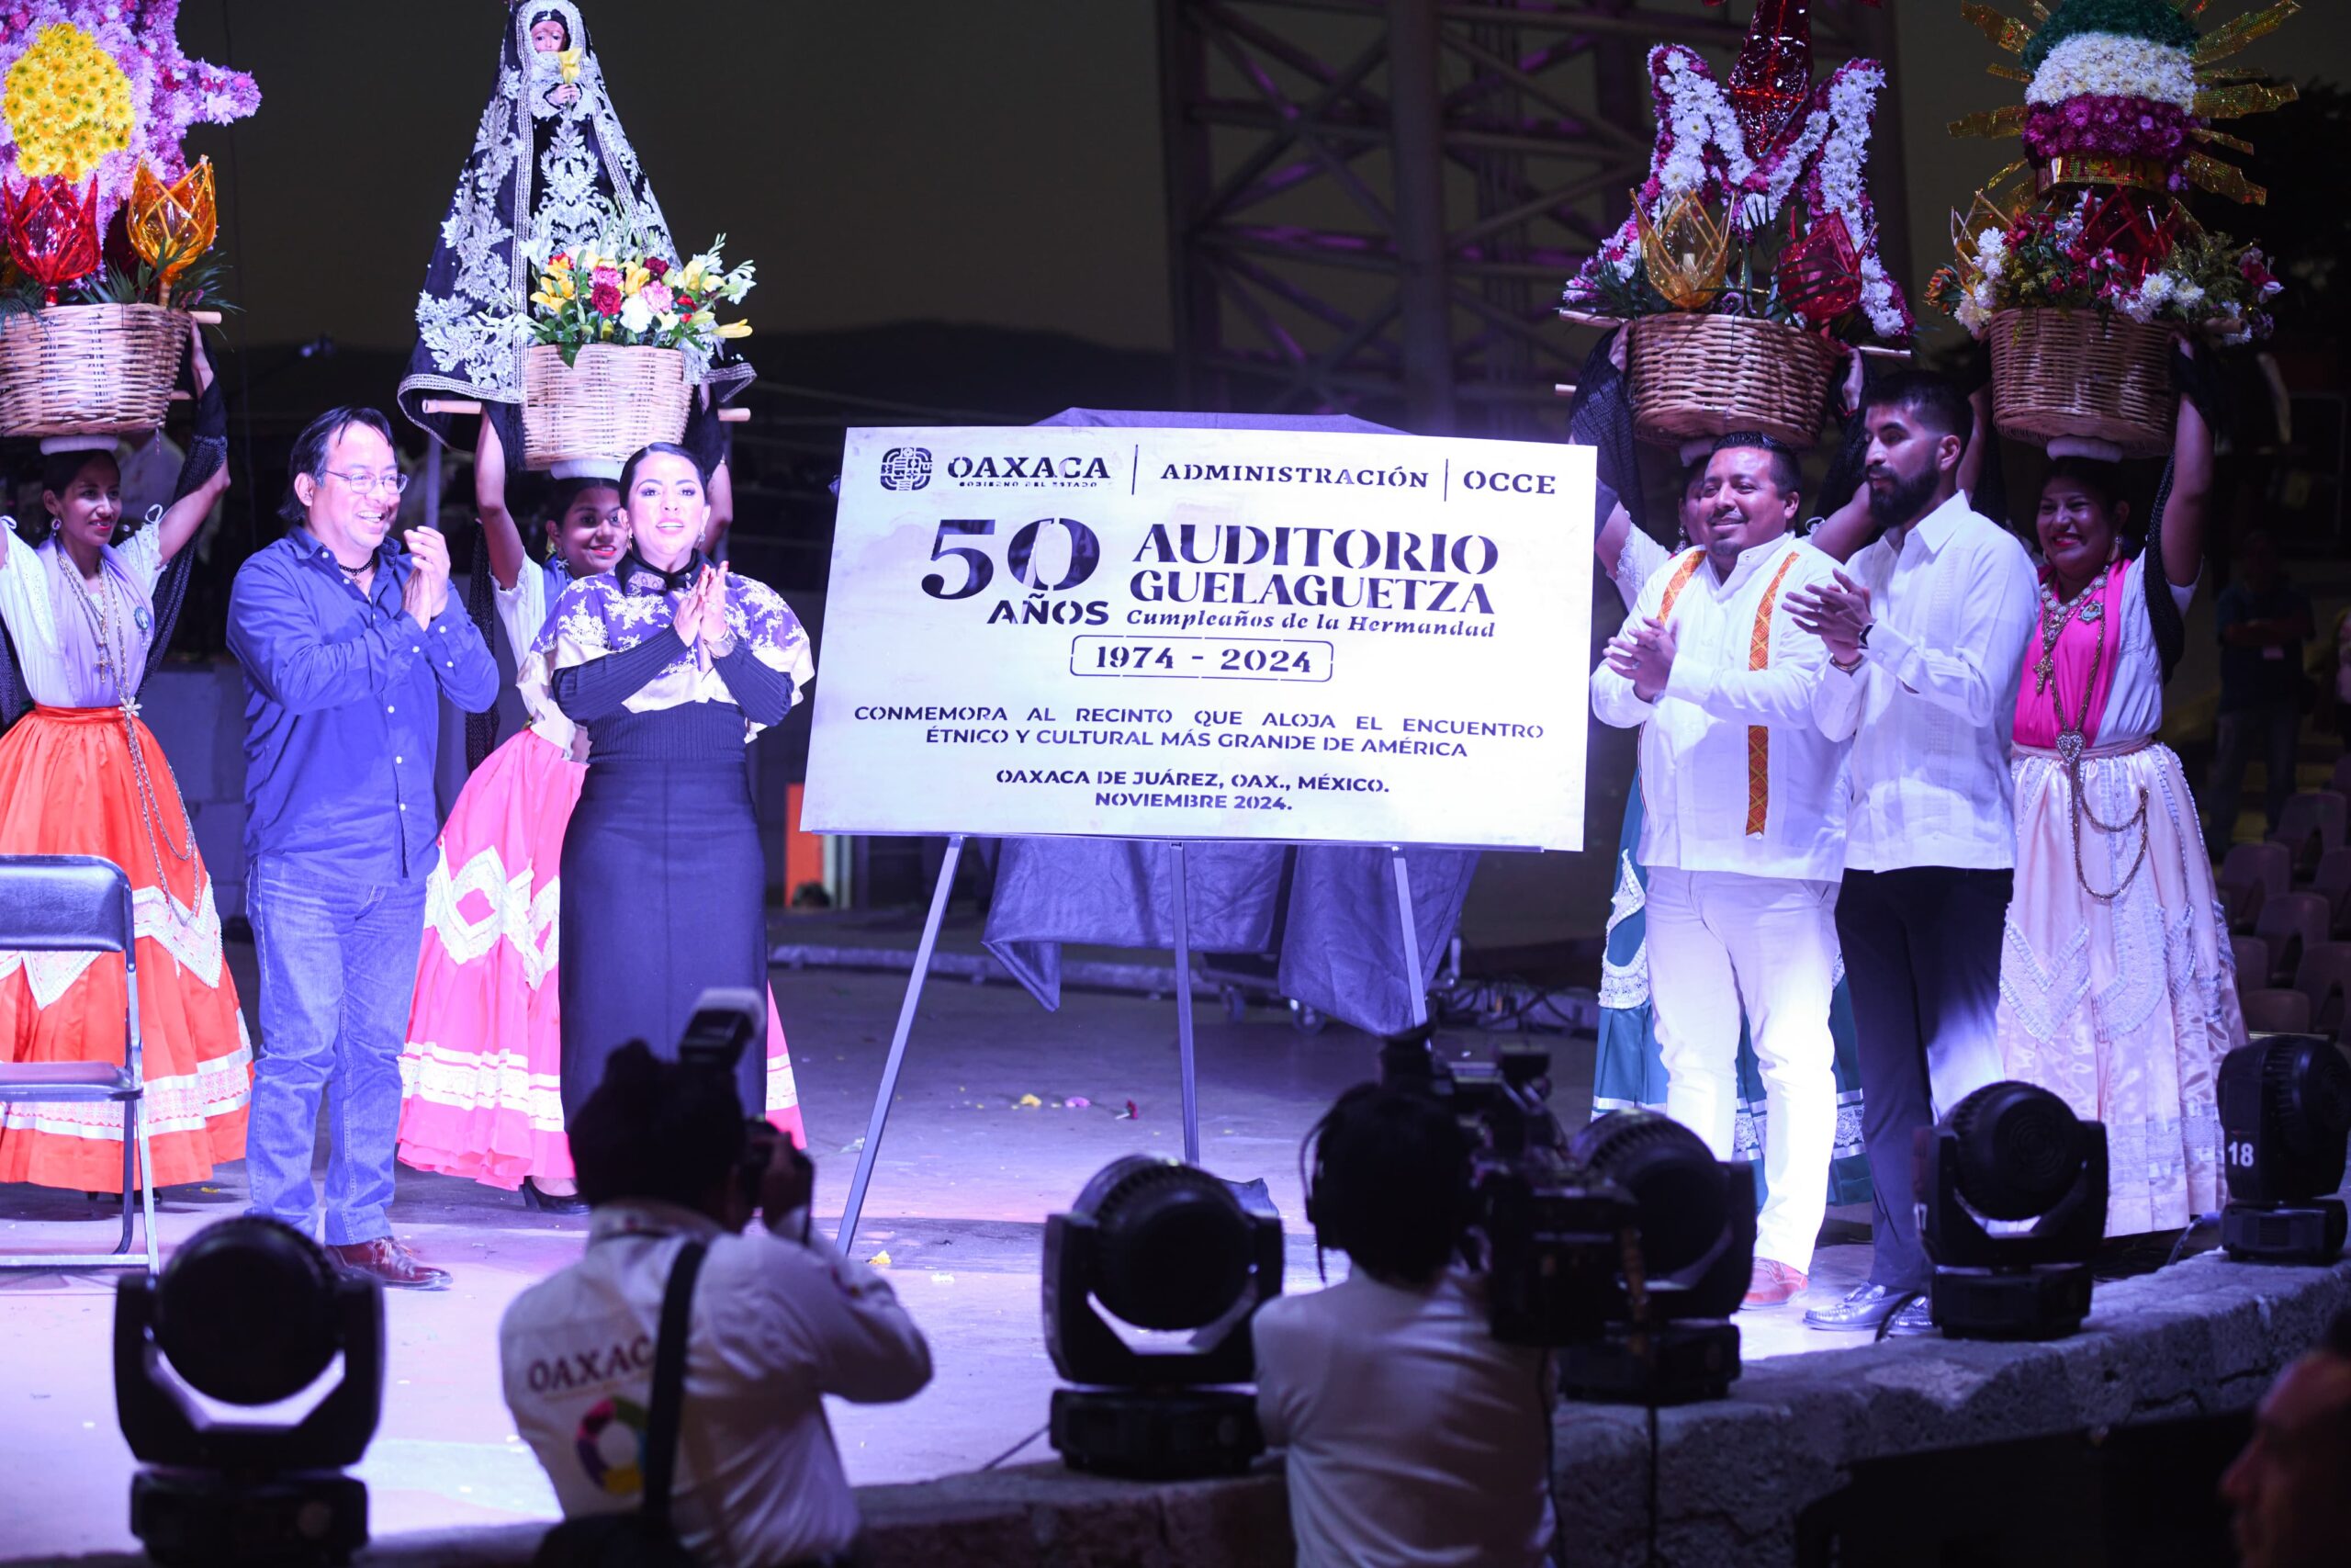
[[[611,571],[628,548],[618,463],[567,465],[548,508],[548,559],[534,562],[505,508],[505,447],[484,418],[475,508],[498,621],[515,663],[531,651],[567,583]],[[588,731],[552,703],[465,780],[440,835],[426,940],[400,1058],[407,1105],[400,1159],[421,1171],[522,1190],[531,1208],[585,1213],[564,1138],[557,912],[564,827],[588,776]],[[769,994],[769,1119],[802,1140],[783,1025]]]

